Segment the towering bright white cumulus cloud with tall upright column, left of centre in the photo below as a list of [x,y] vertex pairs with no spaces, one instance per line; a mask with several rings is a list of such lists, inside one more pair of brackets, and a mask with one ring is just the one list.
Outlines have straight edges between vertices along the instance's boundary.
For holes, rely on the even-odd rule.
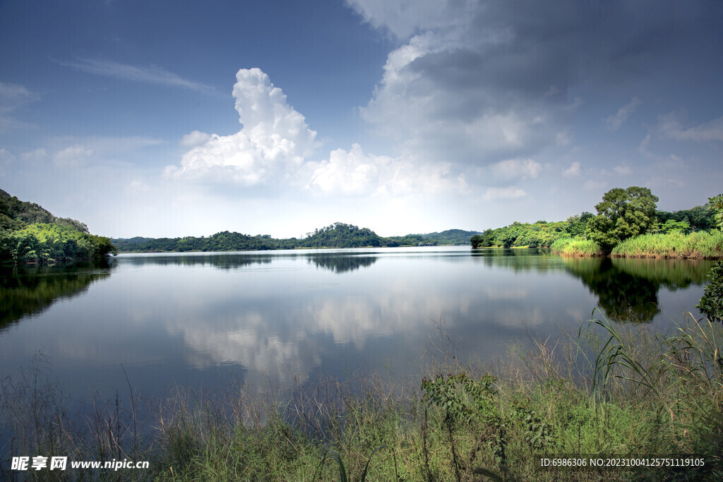
[[[211,135],[183,155],[180,167],[168,166],[166,176],[262,185],[296,173],[315,150],[316,132],[260,69],[239,70],[233,95],[241,130],[229,136]],[[198,139],[200,134],[190,135]]]

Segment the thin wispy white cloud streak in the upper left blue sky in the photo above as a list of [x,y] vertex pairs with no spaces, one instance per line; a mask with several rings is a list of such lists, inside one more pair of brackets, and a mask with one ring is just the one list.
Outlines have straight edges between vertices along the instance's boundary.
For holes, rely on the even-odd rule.
[[116,79],[131,80],[133,82],[146,82],[150,84],[169,85],[171,87],[182,87],[196,90],[210,95],[218,95],[218,90],[202,82],[184,79],[173,72],[168,72],[157,65],[137,66],[121,64],[111,60],[77,59],[76,61],[55,61],[62,66],[80,70],[88,74],[103,75]]

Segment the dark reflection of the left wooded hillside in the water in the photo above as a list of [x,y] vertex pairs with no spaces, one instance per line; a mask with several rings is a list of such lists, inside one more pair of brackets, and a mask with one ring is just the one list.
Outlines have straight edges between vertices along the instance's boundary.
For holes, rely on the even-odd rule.
[[45,311],[55,301],[85,293],[110,271],[107,262],[0,267],[0,330],[22,317]]

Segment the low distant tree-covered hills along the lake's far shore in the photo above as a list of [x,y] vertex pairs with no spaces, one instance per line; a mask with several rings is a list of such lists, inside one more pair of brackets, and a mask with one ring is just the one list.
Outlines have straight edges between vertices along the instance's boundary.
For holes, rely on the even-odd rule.
[[114,238],[111,241],[121,252],[166,251],[257,251],[296,248],[364,248],[418,246],[422,244],[469,244],[477,231],[450,229],[442,233],[410,234],[383,238],[369,228],[359,228],[345,223],[334,223],[316,229],[303,239],[276,239],[268,235],[249,236],[223,231],[213,236],[187,236],[185,238]]

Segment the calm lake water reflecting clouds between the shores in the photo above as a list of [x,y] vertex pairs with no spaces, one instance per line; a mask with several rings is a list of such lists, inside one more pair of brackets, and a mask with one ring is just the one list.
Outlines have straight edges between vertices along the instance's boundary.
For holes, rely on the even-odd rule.
[[[69,395],[147,396],[236,379],[288,388],[349,371],[413,376],[443,328],[463,359],[558,337],[599,306],[663,329],[712,262],[563,259],[537,250],[127,254],[105,267],[0,271],[1,376],[43,350]],[[693,314],[698,316],[696,311]],[[122,367],[121,367],[122,365]]]

